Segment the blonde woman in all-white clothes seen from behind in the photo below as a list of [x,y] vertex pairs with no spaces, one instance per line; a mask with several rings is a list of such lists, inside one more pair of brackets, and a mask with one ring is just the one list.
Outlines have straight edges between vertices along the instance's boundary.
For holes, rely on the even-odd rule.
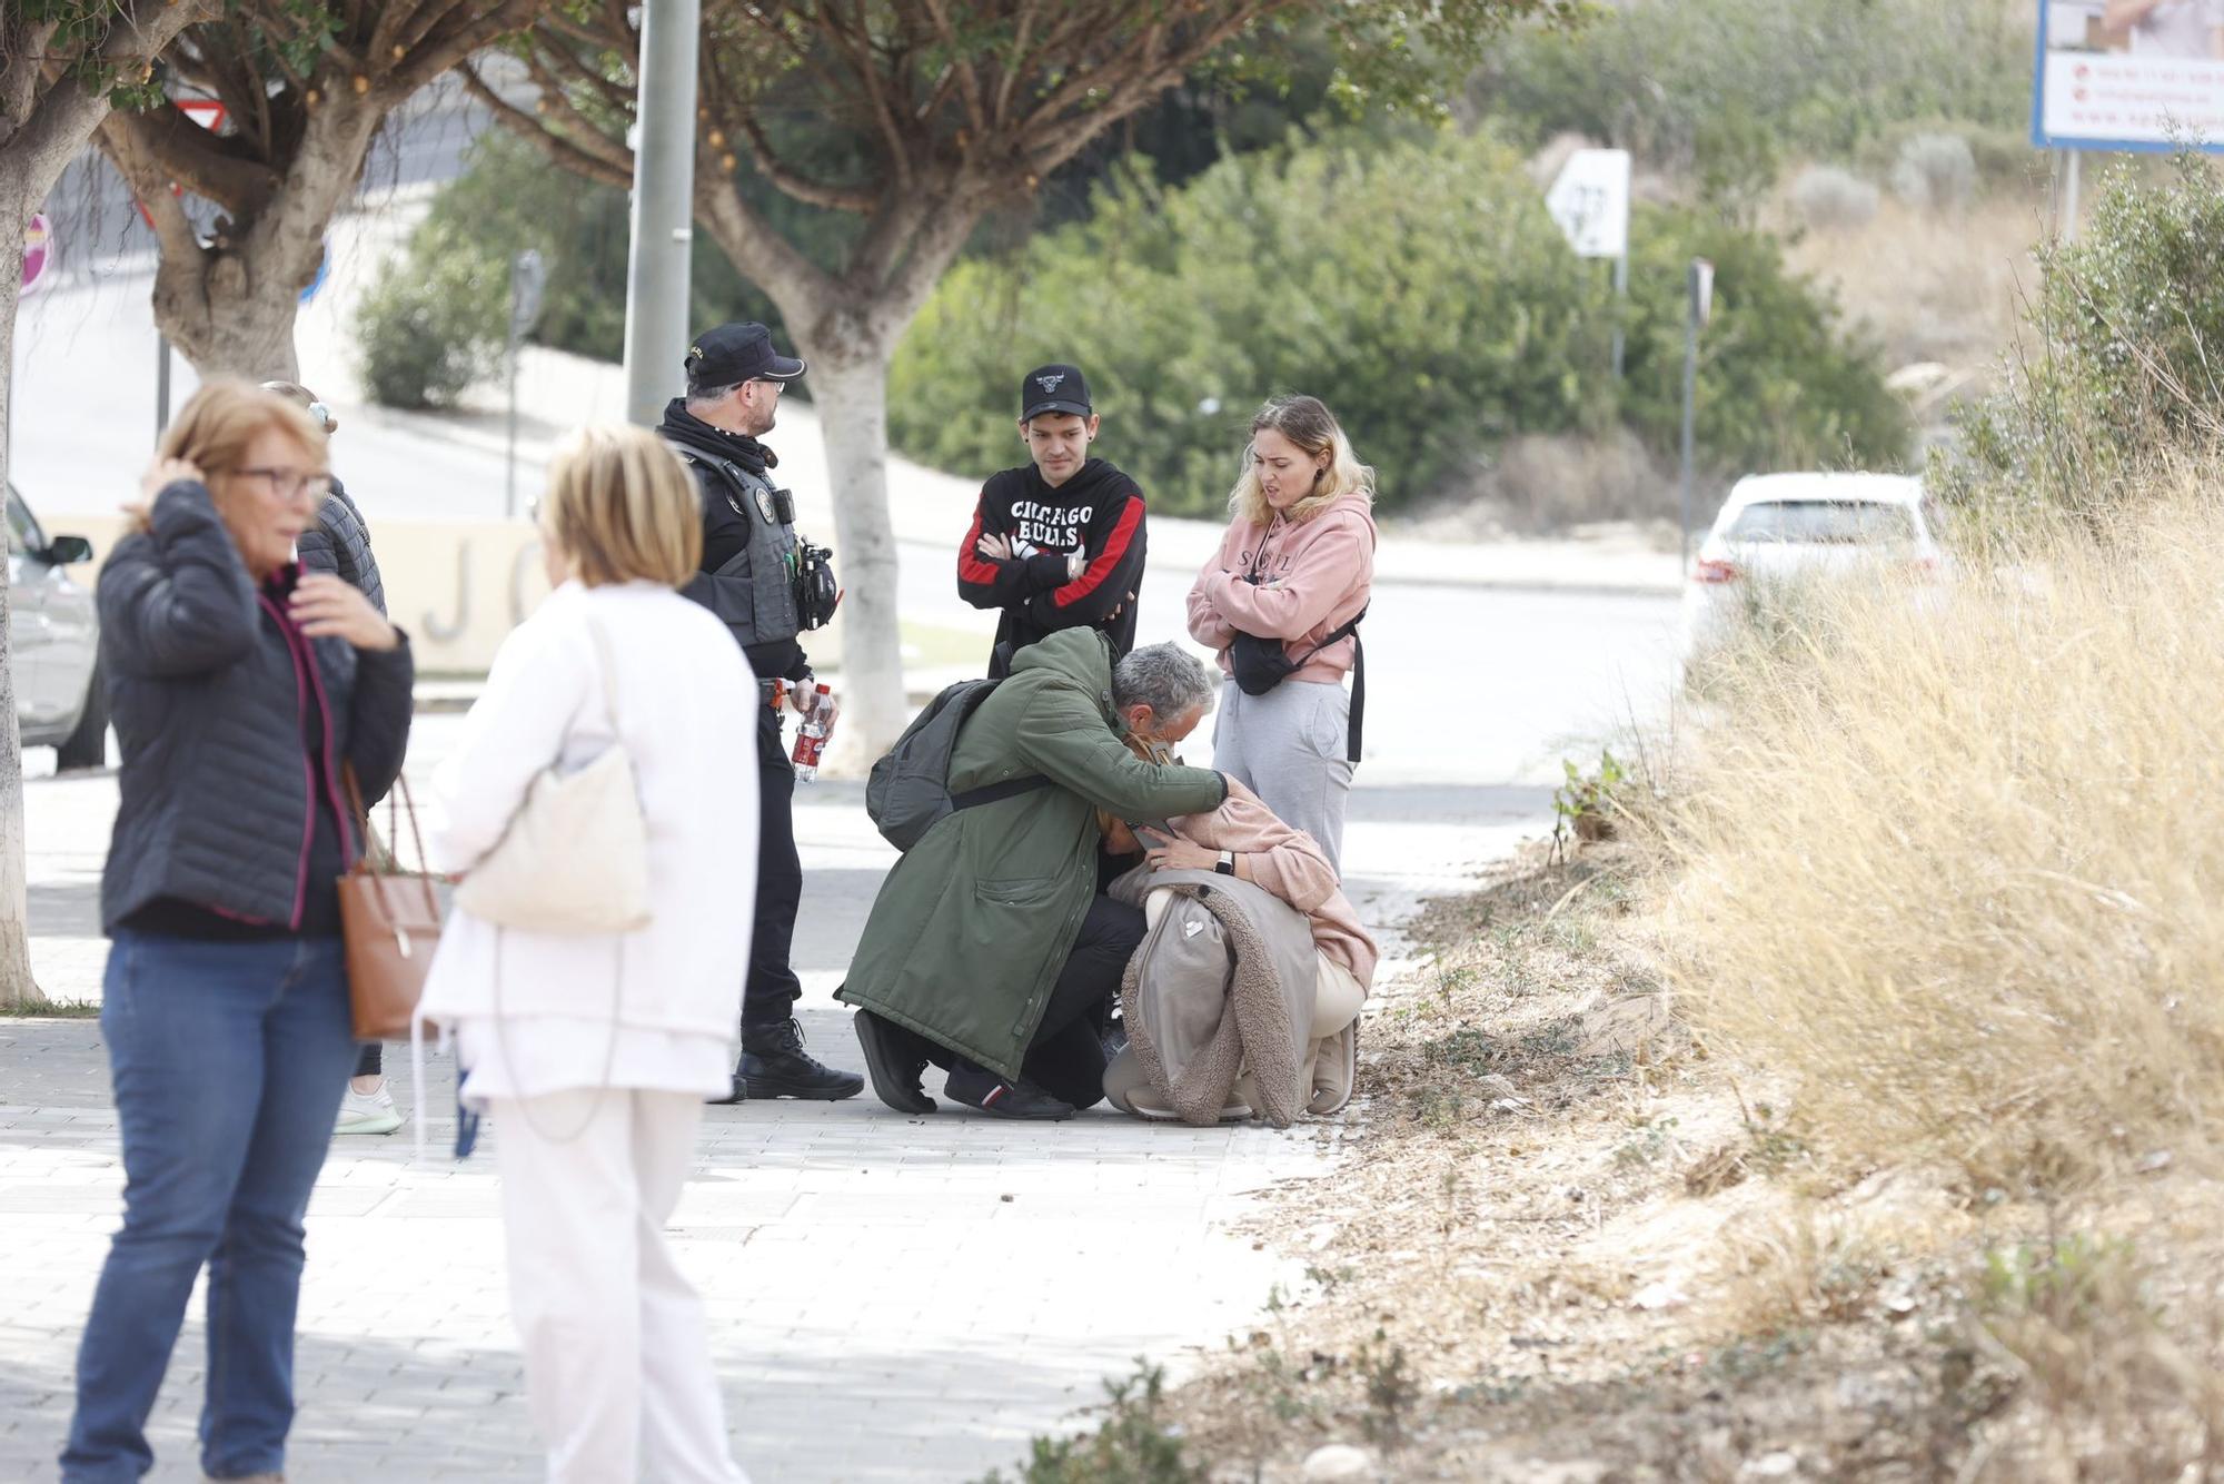
[[[638,932],[496,928],[456,910],[425,1015],[456,1030],[463,1099],[496,1124],[509,1295],[556,1484],[743,1480],[703,1306],[665,1221],[703,1099],[727,1092],[749,961],[756,792],[732,785],[756,683],[725,625],[674,592],[701,563],[694,481],[654,434],[592,427],[549,461],[556,592],[503,643],[436,774],[436,863],[469,872],[527,785],[614,741],[647,825]],[[614,661],[614,663],[612,663]]]

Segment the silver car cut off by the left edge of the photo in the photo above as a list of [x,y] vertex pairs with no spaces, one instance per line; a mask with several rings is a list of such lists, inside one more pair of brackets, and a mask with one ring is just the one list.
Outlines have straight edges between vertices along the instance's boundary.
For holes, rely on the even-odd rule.
[[85,536],[47,536],[13,485],[7,492],[9,674],[24,748],[53,748],[56,768],[105,768],[109,694],[100,679],[93,594],[69,567],[93,558]]

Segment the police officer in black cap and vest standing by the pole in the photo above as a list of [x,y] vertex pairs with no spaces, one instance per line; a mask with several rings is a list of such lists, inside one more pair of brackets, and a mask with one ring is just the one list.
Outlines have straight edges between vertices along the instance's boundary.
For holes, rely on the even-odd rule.
[[[756,672],[756,930],[741,997],[741,1063],[734,1092],[747,1097],[856,1097],[865,1079],[803,1050],[794,1003],[803,983],[787,963],[803,899],[796,857],[796,770],[781,745],[778,681],[796,712],[816,694],[796,636],[834,616],[825,552],[796,538],[794,501],[774,485],[778,461],[758,436],[772,429],[787,383],[803,363],[772,349],[763,325],[718,325],[687,347],[687,396],[672,398],[658,432],[694,469],[703,492],[703,572],[685,592],[734,630]],[[832,721],[832,714],[827,716]]]

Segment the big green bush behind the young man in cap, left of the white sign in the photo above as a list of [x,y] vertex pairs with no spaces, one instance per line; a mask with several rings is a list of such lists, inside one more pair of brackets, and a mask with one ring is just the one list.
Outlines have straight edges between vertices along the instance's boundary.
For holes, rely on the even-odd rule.
[[1179,191],[1128,171],[1088,222],[952,271],[905,338],[890,432],[930,463],[1014,461],[1012,374],[1079,358],[1105,452],[1154,503],[1219,509],[1261,398],[1317,392],[1388,503],[1483,438],[1568,427],[1604,380],[1599,276],[1490,140],[1230,158]]

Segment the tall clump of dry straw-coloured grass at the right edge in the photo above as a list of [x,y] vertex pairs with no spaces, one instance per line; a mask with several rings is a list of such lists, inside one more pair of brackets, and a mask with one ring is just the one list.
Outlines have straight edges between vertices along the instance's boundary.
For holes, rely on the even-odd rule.
[[1712,679],[1670,977],[1853,1161],[2059,1188],[2224,1115],[2224,514],[1815,598]]

